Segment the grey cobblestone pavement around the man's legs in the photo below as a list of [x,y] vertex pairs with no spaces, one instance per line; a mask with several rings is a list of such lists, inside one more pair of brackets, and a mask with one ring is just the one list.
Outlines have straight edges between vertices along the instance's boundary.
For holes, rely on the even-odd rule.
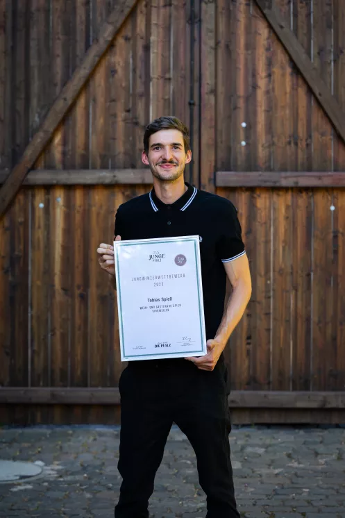
[[[345,429],[239,427],[230,434],[237,503],[247,518],[345,517]],[[0,429],[0,458],[42,466],[0,485],[0,517],[114,516],[119,428]],[[173,428],[150,501],[151,517],[203,518],[194,452]]]

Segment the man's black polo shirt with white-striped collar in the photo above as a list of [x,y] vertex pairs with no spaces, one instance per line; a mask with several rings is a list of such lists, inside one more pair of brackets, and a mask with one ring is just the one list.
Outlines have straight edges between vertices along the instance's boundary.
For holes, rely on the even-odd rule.
[[162,203],[154,189],[120,205],[115,235],[121,235],[121,240],[200,236],[203,306],[209,340],[216,335],[224,312],[226,273],[223,263],[243,256],[244,244],[233,203],[186,185],[185,194],[171,205]]

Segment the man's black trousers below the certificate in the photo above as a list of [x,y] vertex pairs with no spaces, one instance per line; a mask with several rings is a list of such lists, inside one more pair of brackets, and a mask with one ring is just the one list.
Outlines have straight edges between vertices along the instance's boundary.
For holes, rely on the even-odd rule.
[[115,518],[148,518],[155,473],[175,422],[196,453],[206,518],[239,518],[230,462],[226,367],[213,371],[187,360],[130,362],[119,381],[123,478]]

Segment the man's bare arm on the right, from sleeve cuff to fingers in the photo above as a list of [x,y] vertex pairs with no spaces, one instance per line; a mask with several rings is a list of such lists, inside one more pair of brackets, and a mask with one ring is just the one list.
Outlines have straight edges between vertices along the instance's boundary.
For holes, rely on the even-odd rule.
[[208,340],[208,353],[199,358],[186,358],[196,367],[212,371],[223,352],[228,339],[239,323],[251,298],[251,273],[246,254],[233,261],[225,262],[226,275],[233,287],[221,323],[213,340]]

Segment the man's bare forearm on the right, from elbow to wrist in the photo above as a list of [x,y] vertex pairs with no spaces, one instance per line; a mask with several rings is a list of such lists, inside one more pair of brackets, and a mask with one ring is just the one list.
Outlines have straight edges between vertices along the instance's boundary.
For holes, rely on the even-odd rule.
[[221,323],[219,324],[217,334],[214,337],[217,342],[224,344],[224,347],[226,346],[231,333],[233,333],[233,330],[242,318],[250,298],[251,286],[245,281],[239,281],[239,283],[233,288],[233,292],[231,293],[224,310]]

